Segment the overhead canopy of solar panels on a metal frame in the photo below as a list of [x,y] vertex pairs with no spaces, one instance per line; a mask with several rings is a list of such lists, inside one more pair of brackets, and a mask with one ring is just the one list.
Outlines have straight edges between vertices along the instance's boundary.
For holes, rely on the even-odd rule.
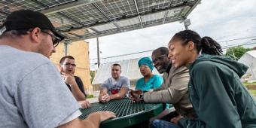
[[184,20],[200,0],[3,0],[0,23],[12,11],[32,9],[78,41]]

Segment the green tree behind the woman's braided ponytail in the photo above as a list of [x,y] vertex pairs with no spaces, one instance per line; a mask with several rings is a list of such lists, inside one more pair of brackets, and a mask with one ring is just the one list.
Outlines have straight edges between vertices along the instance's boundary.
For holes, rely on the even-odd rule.
[[226,56],[230,56],[232,59],[238,60],[241,56],[249,50],[253,50],[253,48],[245,48],[242,46],[238,47],[230,47],[227,49]]

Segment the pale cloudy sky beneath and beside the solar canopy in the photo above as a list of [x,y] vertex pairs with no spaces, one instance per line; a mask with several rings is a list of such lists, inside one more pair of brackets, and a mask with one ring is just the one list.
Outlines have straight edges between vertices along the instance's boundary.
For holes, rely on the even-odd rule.
[[[202,0],[187,17],[191,23],[189,29],[198,32],[201,37],[214,38],[222,46],[256,41],[255,7],[255,0]],[[172,35],[181,30],[184,30],[183,23],[175,22],[99,37],[100,57],[166,47]],[[228,41],[236,38],[246,39]],[[89,42],[90,60],[96,59],[96,38],[85,41]],[[252,44],[249,47],[255,46]]]

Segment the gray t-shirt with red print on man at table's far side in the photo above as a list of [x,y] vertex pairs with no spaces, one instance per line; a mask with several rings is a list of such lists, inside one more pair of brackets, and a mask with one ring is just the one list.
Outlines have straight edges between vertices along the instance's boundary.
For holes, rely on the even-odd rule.
[[[120,76],[118,80],[114,78],[108,78],[103,82],[101,88],[108,89],[108,94],[113,95],[120,92],[121,87],[126,87],[128,90],[130,89],[130,81],[128,78]],[[126,97],[128,97],[128,92],[126,93]]]

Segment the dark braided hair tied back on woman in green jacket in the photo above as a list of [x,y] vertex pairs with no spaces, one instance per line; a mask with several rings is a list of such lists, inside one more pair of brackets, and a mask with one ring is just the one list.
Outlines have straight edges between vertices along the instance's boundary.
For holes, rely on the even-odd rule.
[[198,53],[207,53],[210,55],[222,55],[221,45],[214,39],[206,36],[201,38],[197,32],[192,30],[184,30],[176,33],[172,40],[181,40],[183,44],[187,44],[188,41],[193,41]]

